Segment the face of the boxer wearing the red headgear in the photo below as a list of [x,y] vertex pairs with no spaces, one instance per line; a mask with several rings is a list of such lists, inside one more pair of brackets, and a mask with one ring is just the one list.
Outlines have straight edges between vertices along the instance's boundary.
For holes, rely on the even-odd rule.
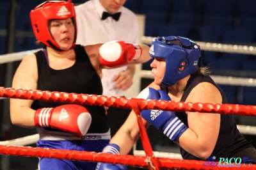
[[68,50],[72,47],[75,35],[72,19],[51,20],[49,29],[54,41],[60,45],[60,49]]

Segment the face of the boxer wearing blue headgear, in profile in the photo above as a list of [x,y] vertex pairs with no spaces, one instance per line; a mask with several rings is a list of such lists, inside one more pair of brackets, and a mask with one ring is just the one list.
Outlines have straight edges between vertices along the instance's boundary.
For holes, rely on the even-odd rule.
[[154,77],[154,82],[157,85],[161,85],[161,82],[164,78],[165,68],[166,68],[166,62],[163,58],[155,58],[154,61],[150,64],[152,68],[152,74]]

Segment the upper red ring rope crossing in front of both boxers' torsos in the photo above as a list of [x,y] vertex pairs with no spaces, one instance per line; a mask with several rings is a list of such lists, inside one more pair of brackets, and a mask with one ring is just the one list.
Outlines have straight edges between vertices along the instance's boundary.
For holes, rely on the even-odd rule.
[[159,109],[166,111],[209,112],[221,114],[237,114],[241,116],[256,116],[255,105],[237,104],[201,104],[164,100],[144,100],[140,98],[106,97],[104,95],[86,95],[58,91],[40,91],[31,89],[0,88],[0,97],[42,100],[49,102],[65,102],[84,105],[104,105],[132,109],[138,105],[140,110]]

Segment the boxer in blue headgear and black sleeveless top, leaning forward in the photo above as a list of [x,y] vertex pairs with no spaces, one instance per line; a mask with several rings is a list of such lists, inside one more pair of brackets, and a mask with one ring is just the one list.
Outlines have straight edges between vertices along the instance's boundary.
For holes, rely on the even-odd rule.
[[[181,36],[158,37],[152,42],[149,54],[154,58],[150,64],[154,81],[137,98],[172,100],[169,104],[176,109],[181,109],[183,102],[188,105],[180,111],[142,110],[145,127],[152,125],[177,143],[183,159],[207,160],[214,156],[214,161],[218,162],[221,157],[243,157],[245,154],[250,160],[256,160],[255,148],[241,135],[232,115],[206,110],[196,112],[190,108],[192,103],[196,107],[228,103],[223,90],[209,76],[208,66],[200,65],[199,45]],[[122,155],[127,154],[140,137],[138,118],[140,116],[131,113],[109,142]]]

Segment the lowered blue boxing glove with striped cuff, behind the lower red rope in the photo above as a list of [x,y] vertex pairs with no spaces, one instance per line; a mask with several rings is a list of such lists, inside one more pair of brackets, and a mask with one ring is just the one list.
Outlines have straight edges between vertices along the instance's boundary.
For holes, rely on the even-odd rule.
[[[120,155],[120,147],[117,144],[108,144],[102,151],[103,153],[113,153]],[[120,164],[98,163],[96,170],[126,170],[127,167]]]

